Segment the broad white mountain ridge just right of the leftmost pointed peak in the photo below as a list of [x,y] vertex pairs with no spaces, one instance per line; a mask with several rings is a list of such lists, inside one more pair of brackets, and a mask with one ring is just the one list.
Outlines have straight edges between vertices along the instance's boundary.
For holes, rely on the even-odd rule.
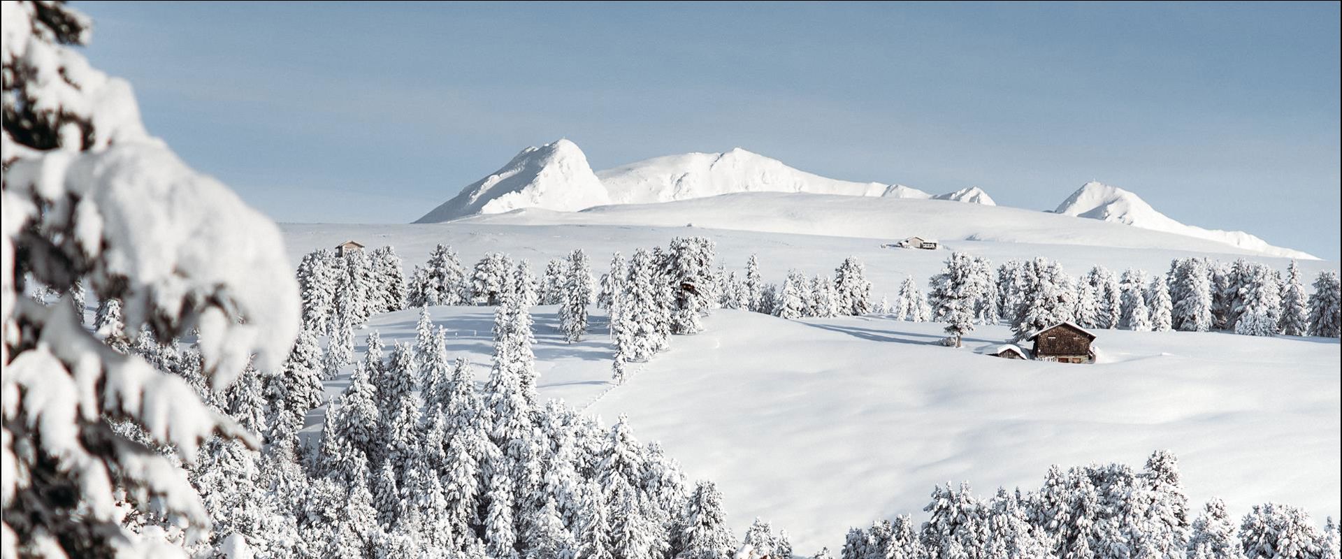
[[895,196],[926,197],[907,186],[825,178],[741,147],[726,153],[655,157],[603,170],[597,177],[612,204],[670,202],[738,192],[884,196],[888,190]]

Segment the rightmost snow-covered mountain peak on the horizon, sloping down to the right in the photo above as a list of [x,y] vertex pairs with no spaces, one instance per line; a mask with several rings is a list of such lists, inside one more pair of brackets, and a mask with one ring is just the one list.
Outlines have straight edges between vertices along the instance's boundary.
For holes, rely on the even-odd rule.
[[1154,229],[1168,233],[1186,235],[1189,237],[1208,239],[1272,256],[1314,259],[1312,255],[1300,251],[1270,245],[1263,239],[1255,237],[1243,231],[1202,229],[1200,227],[1181,224],[1169,216],[1157,212],[1155,208],[1151,208],[1151,205],[1146,204],[1146,201],[1139,196],[1102,182],[1091,181],[1082,185],[1082,188],[1074,192],[1072,196],[1059,204],[1057,209],[1053,212],[1064,216],[1090,217],[1094,220],[1139,227],[1142,229]]

